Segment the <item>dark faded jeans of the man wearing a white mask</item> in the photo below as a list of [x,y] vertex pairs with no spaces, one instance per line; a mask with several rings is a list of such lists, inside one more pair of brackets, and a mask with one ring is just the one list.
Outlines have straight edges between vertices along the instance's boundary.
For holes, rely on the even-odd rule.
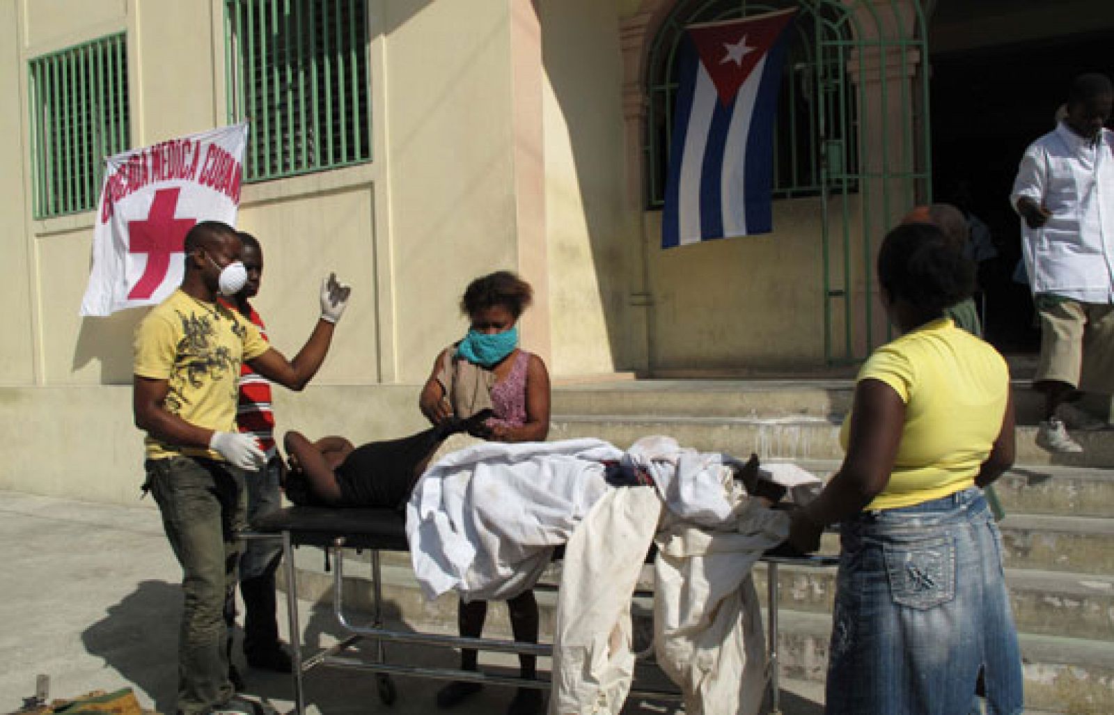
[[206,713],[233,695],[224,608],[236,585],[247,501],[243,472],[190,457],[147,460],[147,484],[174,555],[185,604],[178,634],[178,702],[183,715]]

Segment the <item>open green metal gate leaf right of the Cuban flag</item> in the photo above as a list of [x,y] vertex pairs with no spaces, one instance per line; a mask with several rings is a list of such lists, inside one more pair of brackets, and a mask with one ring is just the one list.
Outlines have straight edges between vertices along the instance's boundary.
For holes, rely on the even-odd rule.
[[808,6],[823,143],[824,355],[853,362],[891,337],[876,314],[876,244],[931,199],[926,23],[917,0],[801,0]]

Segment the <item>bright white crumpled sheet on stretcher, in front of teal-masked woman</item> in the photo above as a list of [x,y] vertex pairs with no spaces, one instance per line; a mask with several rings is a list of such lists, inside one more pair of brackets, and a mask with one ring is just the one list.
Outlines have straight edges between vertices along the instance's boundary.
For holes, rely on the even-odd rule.
[[600,460],[622,454],[595,439],[485,442],[438,461],[407,505],[426,597],[456,589],[465,600],[507,600],[531,588],[606,491]]

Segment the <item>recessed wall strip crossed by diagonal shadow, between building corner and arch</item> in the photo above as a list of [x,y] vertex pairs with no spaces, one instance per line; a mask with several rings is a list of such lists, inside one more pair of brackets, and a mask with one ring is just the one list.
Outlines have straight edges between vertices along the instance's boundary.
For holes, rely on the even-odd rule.
[[645,364],[639,210],[626,194],[618,14],[595,0],[537,3],[545,68],[546,229],[553,370]]

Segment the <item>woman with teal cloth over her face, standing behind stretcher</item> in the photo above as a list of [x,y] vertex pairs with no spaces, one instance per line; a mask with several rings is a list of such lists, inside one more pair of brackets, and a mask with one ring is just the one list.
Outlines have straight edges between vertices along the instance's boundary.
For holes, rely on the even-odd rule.
[[[451,417],[465,420],[490,409],[482,435],[498,442],[540,442],[549,432],[549,373],[545,362],[518,346],[518,319],[530,304],[530,285],[508,271],[472,281],[460,301],[470,326],[465,337],[438,355],[419,398],[433,424]],[[534,591],[508,601],[515,639],[538,640],[538,605]],[[487,601],[460,601],[460,635],[478,638]],[[524,678],[535,676],[534,656],[519,656]],[[461,669],[477,669],[476,650],[461,650]],[[451,707],[483,686],[457,680],[441,688],[440,707]],[[541,692],[519,688],[509,713],[541,712]]]

